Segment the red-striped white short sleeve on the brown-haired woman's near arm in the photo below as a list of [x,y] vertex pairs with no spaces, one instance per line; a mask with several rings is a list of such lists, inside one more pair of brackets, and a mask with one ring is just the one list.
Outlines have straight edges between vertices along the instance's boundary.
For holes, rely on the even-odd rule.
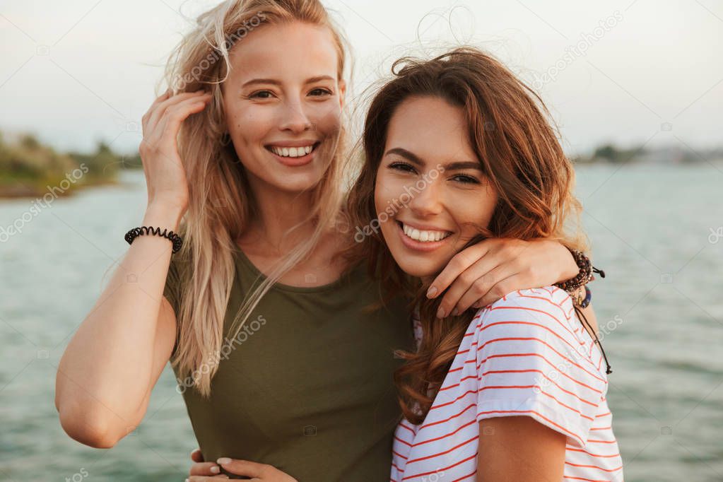
[[607,376],[568,294],[552,286],[516,291],[477,321],[477,421],[530,416],[584,447]]

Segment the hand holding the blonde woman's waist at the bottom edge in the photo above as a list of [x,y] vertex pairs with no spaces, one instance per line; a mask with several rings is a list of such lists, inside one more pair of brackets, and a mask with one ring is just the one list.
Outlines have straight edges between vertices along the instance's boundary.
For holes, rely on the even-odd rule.
[[203,455],[199,449],[191,452],[191,460],[194,461],[194,464],[191,466],[189,472],[190,477],[187,478],[188,482],[208,481],[211,478],[228,478],[228,475],[221,473],[221,468],[228,473],[244,475],[245,477],[252,478],[254,481],[297,482],[291,475],[283,473],[271,465],[249,462],[248,460],[222,457],[216,461],[221,463],[204,462]]

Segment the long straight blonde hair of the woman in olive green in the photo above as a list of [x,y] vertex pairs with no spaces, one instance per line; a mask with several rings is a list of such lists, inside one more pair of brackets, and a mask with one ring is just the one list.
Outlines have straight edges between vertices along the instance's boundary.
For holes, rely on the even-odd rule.
[[[248,227],[257,206],[249,196],[249,184],[233,144],[228,142],[221,84],[230,68],[229,51],[237,41],[253,35],[262,24],[305,22],[328,27],[338,51],[338,79],[342,79],[346,41],[318,0],[229,0],[197,18],[192,32],[174,48],[168,60],[165,82],[178,92],[205,89],[213,95],[207,108],[181,125],[179,153],[189,179],[189,209],[179,231],[184,245],[178,254],[188,259],[181,270],[184,291],[176,313],[178,343],[172,366],[181,374],[197,374],[192,386],[205,397],[218,370],[223,341],[223,321],[234,283],[233,251],[236,240]],[[344,199],[341,182],[343,122],[338,144],[320,181],[311,189],[313,207],[295,228],[314,223],[315,231],[289,252],[268,277],[248,293],[231,325],[233,340],[247,322],[262,296],[302,259],[338,220]],[[234,331],[235,329],[235,331]]]

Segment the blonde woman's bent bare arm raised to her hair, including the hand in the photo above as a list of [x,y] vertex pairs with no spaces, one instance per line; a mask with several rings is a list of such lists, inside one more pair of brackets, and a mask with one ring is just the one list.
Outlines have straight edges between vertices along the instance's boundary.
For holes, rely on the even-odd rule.
[[[188,185],[176,134],[207,101],[199,92],[166,92],[143,116],[143,225],[178,229]],[[145,415],[176,339],[176,315],[163,297],[171,250],[161,236],[135,238],[61,358],[55,404],[63,429],[82,444],[113,447]]]

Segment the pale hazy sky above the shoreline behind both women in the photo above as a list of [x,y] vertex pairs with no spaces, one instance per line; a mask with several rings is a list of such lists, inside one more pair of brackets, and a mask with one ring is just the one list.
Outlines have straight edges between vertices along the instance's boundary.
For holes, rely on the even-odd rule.
[[[61,150],[98,139],[136,150],[167,53],[187,17],[216,3],[0,2],[0,129]],[[570,153],[608,141],[723,145],[721,1],[324,3],[354,46],[356,92],[399,56],[471,43],[541,92]]]

